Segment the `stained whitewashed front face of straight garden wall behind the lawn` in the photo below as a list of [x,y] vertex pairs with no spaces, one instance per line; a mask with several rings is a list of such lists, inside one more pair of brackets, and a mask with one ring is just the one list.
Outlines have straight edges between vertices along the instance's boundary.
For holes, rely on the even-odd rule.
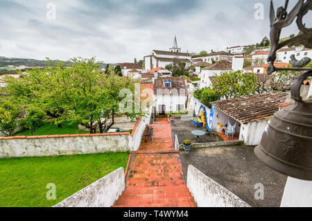
[[103,136],[79,136],[79,134],[78,136],[65,136],[67,137],[33,137],[34,139],[19,139],[18,136],[15,136],[14,139],[4,137],[0,139],[0,158],[127,152],[131,146],[129,133]]

